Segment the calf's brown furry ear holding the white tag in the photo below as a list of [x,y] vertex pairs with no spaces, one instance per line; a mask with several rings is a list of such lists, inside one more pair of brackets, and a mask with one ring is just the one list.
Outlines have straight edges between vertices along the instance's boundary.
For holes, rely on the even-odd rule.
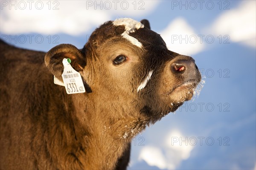
[[48,51],[45,54],[44,62],[49,71],[55,75],[56,78],[62,80],[61,74],[63,73],[64,66],[62,60],[70,58],[70,65],[76,71],[83,71],[86,65],[85,54],[71,44],[60,44]]

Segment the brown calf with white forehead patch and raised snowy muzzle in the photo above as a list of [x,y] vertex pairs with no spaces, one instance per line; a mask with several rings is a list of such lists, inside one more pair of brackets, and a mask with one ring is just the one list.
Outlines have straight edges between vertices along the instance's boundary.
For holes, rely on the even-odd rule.
[[[108,21],[81,50],[0,47],[5,170],[125,169],[131,139],[191,99],[201,80],[194,59],[169,51],[147,20]],[[67,94],[64,65],[81,74],[86,93]]]

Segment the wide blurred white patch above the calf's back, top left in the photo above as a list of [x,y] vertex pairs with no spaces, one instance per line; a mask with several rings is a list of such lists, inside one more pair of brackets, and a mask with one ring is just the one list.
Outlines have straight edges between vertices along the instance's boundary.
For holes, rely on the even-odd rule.
[[44,8],[41,10],[33,5],[31,10],[28,6],[24,10],[3,8],[0,18],[1,32],[6,34],[29,32],[55,34],[61,32],[78,35],[111,18],[103,11],[86,10],[84,1],[74,1],[72,4],[70,1],[58,1],[58,10],[49,10],[47,1],[41,2],[44,2]]

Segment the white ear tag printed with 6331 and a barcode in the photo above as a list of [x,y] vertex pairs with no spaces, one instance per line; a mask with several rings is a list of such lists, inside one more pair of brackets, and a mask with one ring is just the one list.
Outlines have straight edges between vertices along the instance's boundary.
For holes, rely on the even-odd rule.
[[64,58],[64,71],[61,74],[67,94],[84,93],[84,83],[81,74],[70,65],[71,60]]

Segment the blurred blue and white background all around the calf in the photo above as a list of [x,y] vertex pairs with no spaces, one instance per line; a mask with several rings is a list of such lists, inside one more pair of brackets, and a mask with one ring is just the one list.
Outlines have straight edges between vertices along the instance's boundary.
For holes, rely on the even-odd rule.
[[24,2],[1,1],[0,36],[18,47],[82,48],[107,20],[146,18],[170,50],[195,59],[205,81],[200,95],[136,136],[130,170],[256,169],[254,0],[118,1],[116,8],[114,1],[41,1],[40,10]]

